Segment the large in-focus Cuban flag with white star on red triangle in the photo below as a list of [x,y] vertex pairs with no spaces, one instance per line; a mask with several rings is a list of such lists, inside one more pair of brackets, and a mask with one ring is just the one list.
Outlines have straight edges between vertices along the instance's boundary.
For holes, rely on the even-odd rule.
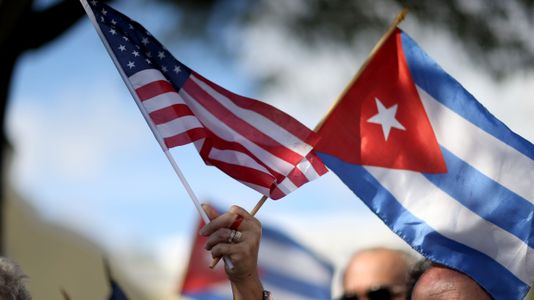
[[396,234],[495,299],[534,278],[534,146],[400,29],[319,130],[323,162]]

